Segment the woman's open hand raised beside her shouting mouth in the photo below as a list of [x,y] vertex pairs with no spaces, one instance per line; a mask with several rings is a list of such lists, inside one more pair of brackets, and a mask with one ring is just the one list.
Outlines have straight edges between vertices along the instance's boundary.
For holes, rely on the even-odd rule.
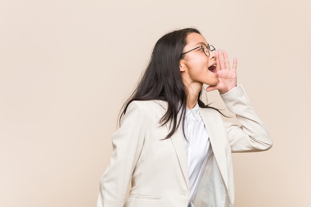
[[236,58],[233,59],[233,67],[231,69],[226,51],[222,52],[221,49],[218,49],[216,53],[216,62],[219,82],[215,86],[208,86],[206,91],[217,89],[220,93],[227,93],[236,86],[237,60]]

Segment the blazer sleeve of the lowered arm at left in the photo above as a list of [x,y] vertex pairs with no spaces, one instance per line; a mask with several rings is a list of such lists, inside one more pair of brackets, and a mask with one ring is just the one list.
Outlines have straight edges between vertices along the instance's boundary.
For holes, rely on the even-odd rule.
[[133,101],[127,108],[120,128],[112,136],[110,164],[100,179],[97,207],[123,207],[146,131],[145,113]]

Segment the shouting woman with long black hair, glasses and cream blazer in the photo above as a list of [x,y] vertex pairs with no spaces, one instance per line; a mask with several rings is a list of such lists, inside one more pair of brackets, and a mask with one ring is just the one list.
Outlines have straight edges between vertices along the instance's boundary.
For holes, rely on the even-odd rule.
[[[241,85],[237,60],[200,32],[170,32],[124,105],[97,207],[233,207],[231,152],[267,150],[272,140]],[[200,95],[219,90],[241,126],[223,121]],[[131,190],[128,195],[128,185]]]

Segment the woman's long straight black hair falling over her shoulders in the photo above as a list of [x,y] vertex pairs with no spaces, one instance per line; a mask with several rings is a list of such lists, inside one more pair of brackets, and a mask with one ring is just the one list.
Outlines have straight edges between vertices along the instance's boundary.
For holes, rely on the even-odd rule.
[[[183,58],[181,54],[187,44],[186,38],[189,33],[201,34],[194,28],[180,29],[165,34],[156,42],[143,76],[123,105],[119,123],[132,101],[163,100],[167,102],[167,110],[159,122],[161,126],[168,122],[170,124],[170,132],[166,138],[174,134],[181,121],[184,125],[187,88],[182,81],[179,60]],[[201,108],[207,108],[209,106],[200,100],[201,92],[202,90],[198,96],[198,104]],[[182,119],[178,120],[179,112],[181,112]]]

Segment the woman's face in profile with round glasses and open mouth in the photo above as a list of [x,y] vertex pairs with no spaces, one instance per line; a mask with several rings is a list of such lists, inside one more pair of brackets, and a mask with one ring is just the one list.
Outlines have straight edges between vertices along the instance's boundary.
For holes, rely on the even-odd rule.
[[184,54],[184,58],[179,61],[179,69],[185,85],[202,88],[203,83],[207,85],[218,84],[218,74],[216,73],[216,54],[210,51],[207,57],[201,45],[208,45],[205,38],[198,33],[187,35],[187,45],[183,53],[199,47],[191,52]]

